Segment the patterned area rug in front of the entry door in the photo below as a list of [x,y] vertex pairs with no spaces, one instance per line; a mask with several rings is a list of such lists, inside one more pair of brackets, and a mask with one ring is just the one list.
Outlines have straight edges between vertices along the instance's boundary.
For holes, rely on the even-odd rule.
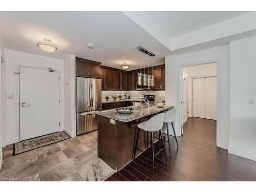
[[36,137],[33,139],[28,139],[25,141],[20,141],[18,143],[13,144],[13,155],[28,152],[34,150],[35,148],[46,146],[69,138],[71,137],[67,135],[65,132],[57,132],[49,135]]

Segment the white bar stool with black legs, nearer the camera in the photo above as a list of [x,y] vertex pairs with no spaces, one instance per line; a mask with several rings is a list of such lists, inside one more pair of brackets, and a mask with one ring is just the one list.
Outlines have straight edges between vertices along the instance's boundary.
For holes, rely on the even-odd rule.
[[[165,117],[165,114],[164,113],[160,113],[150,119],[148,119],[147,121],[144,121],[142,123],[139,123],[137,126],[138,126],[138,132],[137,132],[137,138],[136,138],[136,144],[135,144],[135,149],[134,149],[134,159],[135,159],[135,156],[136,156],[136,151],[139,150],[141,151],[138,146],[141,145],[141,144],[144,144],[145,142],[141,142],[138,144],[138,140],[139,140],[139,134],[140,134],[140,129],[146,131],[146,132],[151,132],[151,146],[152,146],[152,161],[153,161],[153,174],[155,174],[155,156],[157,154],[159,154],[160,152],[158,152],[156,155],[154,155],[154,132],[158,132],[160,133],[160,136],[161,136],[161,141],[162,141],[162,145],[163,145],[163,150],[164,150],[164,154],[165,154],[165,158],[166,158],[166,161],[167,161],[167,157],[166,157],[166,152],[165,152],[165,147],[164,147],[164,142],[163,142],[163,137],[162,137],[162,133],[161,133],[161,129],[163,127],[163,122],[164,122],[164,117]],[[146,141],[146,143],[148,143],[150,141]],[[141,151],[143,152],[143,151]]]

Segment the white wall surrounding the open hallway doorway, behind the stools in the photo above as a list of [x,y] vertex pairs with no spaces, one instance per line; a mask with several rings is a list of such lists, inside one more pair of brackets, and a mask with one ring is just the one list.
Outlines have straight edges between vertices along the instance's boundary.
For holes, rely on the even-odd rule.
[[217,146],[227,149],[229,143],[229,45],[171,55],[165,58],[165,101],[177,108],[176,130],[181,135],[180,124],[180,67],[217,62]]

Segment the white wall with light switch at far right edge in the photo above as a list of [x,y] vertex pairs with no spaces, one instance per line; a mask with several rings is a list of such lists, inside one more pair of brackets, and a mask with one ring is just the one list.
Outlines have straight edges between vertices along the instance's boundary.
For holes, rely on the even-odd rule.
[[230,42],[228,152],[256,160],[256,36]]

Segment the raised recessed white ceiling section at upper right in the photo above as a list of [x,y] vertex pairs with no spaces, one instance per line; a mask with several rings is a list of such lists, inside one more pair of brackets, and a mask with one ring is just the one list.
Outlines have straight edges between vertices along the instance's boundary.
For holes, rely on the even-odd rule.
[[144,11],[170,38],[223,22],[248,11]]

